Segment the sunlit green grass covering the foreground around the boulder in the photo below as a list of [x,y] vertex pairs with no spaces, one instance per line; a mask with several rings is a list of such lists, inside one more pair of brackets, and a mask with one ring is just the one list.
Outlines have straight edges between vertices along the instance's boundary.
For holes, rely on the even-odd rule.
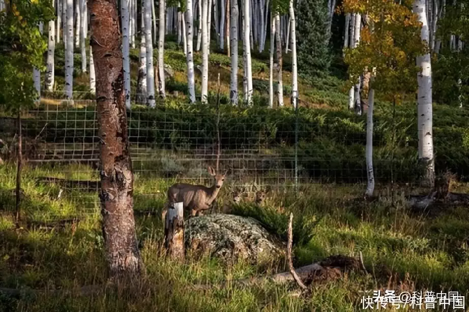
[[[14,229],[15,168],[0,168],[0,286],[10,288],[66,288],[100,284],[106,280],[103,240],[97,195],[65,192],[55,198],[57,185],[36,184],[37,176],[70,176],[94,179],[96,173],[84,166],[55,168],[26,167],[23,173],[25,202],[23,218],[50,221],[81,215],[74,229]],[[164,190],[171,179],[136,175],[135,209],[159,212]],[[351,273],[346,278],[313,286],[306,298],[290,296],[294,285],[260,282],[252,286],[224,280],[274,273],[274,267],[256,267],[243,262],[223,264],[217,259],[187,259],[177,264],[161,254],[162,228],[159,213],[138,215],[137,238],[147,275],[137,290],[107,289],[90,298],[72,294],[45,294],[12,299],[0,295],[1,311],[355,311],[360,310],[363,291],[398,289],[404,283],[413,290],[459,291],[469,295],[469,223],[464,208],[451,208],[436,216],[424,217],[385,201],[350,201],[362,192],[361,185],[311,184],[295,192],[271,190],[266,206],[238,211],[269,223],[269,230],[284,237],[285,216],[293,212],[312,228],[295,245],[296,265],[310,264],[325,257],[363,253],[370,273]],[[460,185],[467,187],[467,185]],[[220,204],[228,199],[224,185]],[[84,196],[84,197],[83,197]],[[246,205],[246,204],[243,204]],[[267,216],[267,219],[266,219]],[[271,218],[271,219],[269,219]],[[273,218],[273,219],[272,219]],[[299,220],[299,219],[296,219]],[[301,225],[301,223],[299,223]],[[300,227],[301,228],[301,227]],[[278,268],[281,269],[281,268]],[[391,275],[392,274],[392,278]],[[406,279],[406,274],[408,274]],[[390,279],[391,278],[391,279]],[[195,285],[209,284],[207,289]],[[78,291],[77,291],[78,292]]]

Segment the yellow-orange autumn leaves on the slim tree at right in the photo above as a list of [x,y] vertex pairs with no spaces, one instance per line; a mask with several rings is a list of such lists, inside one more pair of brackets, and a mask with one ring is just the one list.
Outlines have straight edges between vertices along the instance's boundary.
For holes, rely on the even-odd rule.
[[366,16],[359,45],[345,49],[350,84],[375,69],[373,88],[380,98],[399,101],[406,93],[414,93],[420,71],[415,59],[427,47],[420,39],[421,23],[412,12],[412,1],[344,0],[342,10]]

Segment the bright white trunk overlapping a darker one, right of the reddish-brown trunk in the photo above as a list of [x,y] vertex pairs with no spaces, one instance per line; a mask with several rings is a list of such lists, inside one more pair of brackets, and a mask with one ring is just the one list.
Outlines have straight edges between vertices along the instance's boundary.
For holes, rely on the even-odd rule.
[[[146,43],[146,105],[155,107],[155,72],[153,69],[152,4],[145,1],[145,43]],[[154,7],[154,5],[153,5]]]

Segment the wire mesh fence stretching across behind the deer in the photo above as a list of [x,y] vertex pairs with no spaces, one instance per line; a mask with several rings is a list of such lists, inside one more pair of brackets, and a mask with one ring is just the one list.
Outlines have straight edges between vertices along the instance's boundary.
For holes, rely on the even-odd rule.
[[[152,109],[135,103],[143,105],[128,112],[136,202],[143,210],[164,201],[175,181],[208,185],[207,167],[217,163],[219,171],[228,170],[230,189],[366,183],[364,118],[350,121],[343,112],[306,108],[233,107],[216,96],[207,105],[181,102],[168,99]],[[16,117],[1,119],[0,133],[14,146]],[[96,102],[78,95],[72,103],[56,94],[21,119],[24,155],[36,168],[35,179],[57,184],[57,196],[65,191],[83,208],[98,209]],[[385,145],[386,139],[377,136],[374,144]],[[408,179],[398,170],[415,167],[406,161],[391,153],[375,158],[377,180]]]

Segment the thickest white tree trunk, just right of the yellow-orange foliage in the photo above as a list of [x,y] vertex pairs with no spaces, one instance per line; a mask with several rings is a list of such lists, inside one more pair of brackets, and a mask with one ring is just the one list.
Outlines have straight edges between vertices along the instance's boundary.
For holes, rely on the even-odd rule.
[[[419,16],[422,22],[421,38],[428,45],[429,33],[425,10],[425,0],[414,2],[414,13]],[[426,172],[424,184],[432,188],[435,180],[435,168],[433,158],[433,110],[432,110],[432,77],[430,53],[417,57],[417,66],[422,71],[417,76],[418,88],[418,132],[419,132],[419,159],[425,163]]]

